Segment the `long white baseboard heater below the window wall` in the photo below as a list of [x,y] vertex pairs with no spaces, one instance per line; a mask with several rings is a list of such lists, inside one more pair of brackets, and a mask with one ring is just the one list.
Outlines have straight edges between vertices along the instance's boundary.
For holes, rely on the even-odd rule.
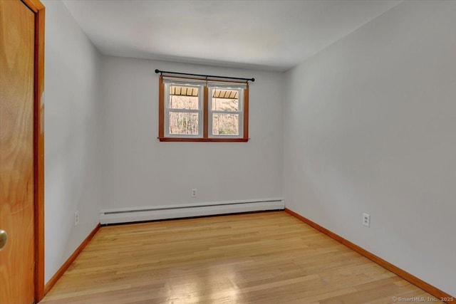
[[200,204],[180,204],[100,210],[100,224],[120,224],[135,221],[180,219],[192,216],[234,214],[251,211],[283,210],[283,199],[218,201]]

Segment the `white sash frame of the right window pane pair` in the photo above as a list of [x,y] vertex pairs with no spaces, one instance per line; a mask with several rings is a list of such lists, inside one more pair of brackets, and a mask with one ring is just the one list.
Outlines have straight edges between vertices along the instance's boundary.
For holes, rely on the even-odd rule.
[[[214,95],[214,90],[237,90],[238,96],[238,110],[237,111],[222,111],[222,110],[212,110],[212,96]],[[210,138],[242,138],[244,137],[244,88],[230,88],[226,86],[211,86],[208,90],[208,136]],[[239,118],[237,120],[237,128],[239,130],[239,135],[224,135],[224,134],[213,134],[212,130],[212,117],[213,114],[238,114]]]

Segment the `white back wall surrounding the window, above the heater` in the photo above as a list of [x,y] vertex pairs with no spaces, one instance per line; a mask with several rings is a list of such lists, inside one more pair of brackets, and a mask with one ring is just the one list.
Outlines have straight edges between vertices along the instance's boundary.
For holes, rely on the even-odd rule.
[[[102,62],[104,209],[281,198],[283,74],[117,57]],[[159,142],[156,68],[254,77],[252,140]]]

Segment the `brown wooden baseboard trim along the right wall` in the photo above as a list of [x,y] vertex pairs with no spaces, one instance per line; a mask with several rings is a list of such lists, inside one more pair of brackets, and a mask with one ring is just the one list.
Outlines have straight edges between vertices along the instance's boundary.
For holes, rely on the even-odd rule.
[[[398,266],[394,266],[392,263],[389,263],[389,262],[383,260],[383,258],[375,256],[375,254],[373,254],[369,251],[366,251],[366,249],[361,248],[360,246],[352,243],[351,241],[343,239],[342,236],[338,236],[337,234],[333,233],[332,231],[329,231],[328,229],[323,228],[322,226],[316,224],[314,221],[311,221],[310,219],[306,219],[304,216],[301,216],[300,214],[297,214],[296,212],[291,211],[288,208],[285,208],[284,211],[287,214],[290,214],[291,216],[296,217],[296,219],[304,221],[304,223],[306,223],[309,226],[311,226],[312,228],[320,231],[322,234],[326,234],[326,236],[329,236],[331,239],[334,239],[334,240],[338,241],[339,243],[347,246],[348,248],[351,248],[353,251],[360,253],[361,256],[364,256],[364,257],[368,258],[369,260],[373,261],[374,263],[377,263],[378,265],[382,266],[383,268],[388,269],[388,271],[395,273],[396,275],[403,278],[405,281],[408,281],[408,282],[412,283],[413,285],[417,286],[418,288],[425,290],[425,292],[430,293],[431,295],[434,295],[435,298],[437,298],[439,300],[450,299],[447,301],[442,300],[442,302],[455,303],[456,297],[443,292],[442,290],[430,285],[429,283],[426,283],[425,281],[411,275],[410,273],[408,273],[406,271],[403,271]],[[453,300],[451,300],[451,299],[453,299]]]

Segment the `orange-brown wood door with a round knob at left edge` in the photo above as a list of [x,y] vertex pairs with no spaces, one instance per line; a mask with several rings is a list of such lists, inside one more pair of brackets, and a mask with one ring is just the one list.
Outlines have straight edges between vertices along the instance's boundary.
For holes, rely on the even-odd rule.
[[0,303],[33,303],[35,14],[0,0],[0,19]]

